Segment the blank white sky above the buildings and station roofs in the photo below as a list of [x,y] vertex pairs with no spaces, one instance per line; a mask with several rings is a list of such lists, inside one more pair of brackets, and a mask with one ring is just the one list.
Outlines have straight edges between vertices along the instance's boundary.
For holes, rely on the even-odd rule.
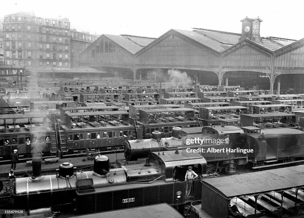
[[1,3],[0,21],[7,14],[34,12],[42,18],[67,17],[71,28],[91,34],[158,38],[170,29],[204,28],[241,33],[240,20],[259,16],[263,20],[261,36],[299,40],[304,38],[303,6],[304,1],[282,0],[10,0]]

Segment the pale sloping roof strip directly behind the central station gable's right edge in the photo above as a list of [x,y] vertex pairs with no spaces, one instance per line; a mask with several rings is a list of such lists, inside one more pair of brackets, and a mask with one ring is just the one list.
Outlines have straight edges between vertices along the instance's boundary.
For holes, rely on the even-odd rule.
[[206,36],[203,36],[197,32],[194,31],[188,31],[188,30],[180,30],[180,29],[174,29],[175,31],[193,39],[194,41],[197,41],[205,46],[208,46],[211,49],[214,49],[218,52],[221,52],[225,50],[227,47],[223,44],[216,42],[215,40],[212,40]]

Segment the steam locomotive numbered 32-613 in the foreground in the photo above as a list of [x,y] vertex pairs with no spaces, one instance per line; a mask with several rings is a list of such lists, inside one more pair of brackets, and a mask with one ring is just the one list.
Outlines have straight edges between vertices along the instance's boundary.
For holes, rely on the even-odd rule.
[[[16,178],[13,197],[16,208],[45,217],[62,212],[98,213],[156,203],[185,204],[185,172],[189,165],[202,179],[207,164],[200,154],[184,151],[151,152],[144,162],[115,164],[98,155],[93,171],[76,170],[65,162],[54,175],[41,175],[41,159],[33,159],[32,177]],[[193,181],[192,200],[201,199],[200,179]],[[106,199],[106,200],[105,200]],[[183,208],[183,207],[180,207]]]

